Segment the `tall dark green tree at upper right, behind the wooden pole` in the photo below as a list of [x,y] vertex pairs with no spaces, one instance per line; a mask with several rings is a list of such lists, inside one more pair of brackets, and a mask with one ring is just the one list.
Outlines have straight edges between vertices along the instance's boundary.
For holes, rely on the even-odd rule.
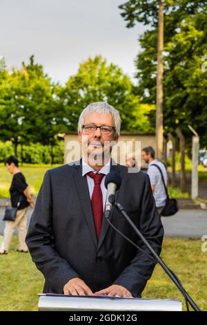
[[[130,0],[120,6],[127,26],[136,21],[148,25],[139,39],[143,50],[137,56],[137,94],[142,102],[155,104],[157,77],[158,1]],[[191,141],[193,124],[207,145],[207,1],[164,2],[164,130],[179,127]],[[151,116],[155,123],[155,114]]]

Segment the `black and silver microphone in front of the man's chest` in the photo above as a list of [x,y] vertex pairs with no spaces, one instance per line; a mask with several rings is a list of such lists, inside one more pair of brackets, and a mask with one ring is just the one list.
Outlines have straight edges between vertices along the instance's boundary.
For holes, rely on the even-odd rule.
[[117,189],[119,189],[121,185],[121,176],[117,171],[110,171],[110,173],[106,175],[104,185],[107,189],[104,214],[106,216],[106,219],[108,219],[112,207],[111,202],[115,199],[115,192],[117,191]]

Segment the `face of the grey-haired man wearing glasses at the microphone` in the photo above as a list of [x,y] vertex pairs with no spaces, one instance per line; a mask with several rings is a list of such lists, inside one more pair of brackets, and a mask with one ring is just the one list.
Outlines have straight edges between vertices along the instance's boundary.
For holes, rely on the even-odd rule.
[[[111,114],[90,113],[86,115],[84,125],[95,125],[96,127],[114,127],[114,121]],[[115,131],[112,130],[109,134],[104,134],[98,128],[92,133],[82,129],[79,132],[79,142],[83,146],[85,156],[101,156],[103,158],[106,151],[110,154],[111,148],[108,142],[115,141]]]

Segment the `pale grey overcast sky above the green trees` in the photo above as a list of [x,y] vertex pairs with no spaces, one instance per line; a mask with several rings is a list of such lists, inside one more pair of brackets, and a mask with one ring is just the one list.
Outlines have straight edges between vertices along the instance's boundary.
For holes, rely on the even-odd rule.
[[102,55],[130,77],[140,50],[141,24],[126,28],[126,0],[0,0],[0,55],[19,67],[30,55],[61,83],[89,56]]

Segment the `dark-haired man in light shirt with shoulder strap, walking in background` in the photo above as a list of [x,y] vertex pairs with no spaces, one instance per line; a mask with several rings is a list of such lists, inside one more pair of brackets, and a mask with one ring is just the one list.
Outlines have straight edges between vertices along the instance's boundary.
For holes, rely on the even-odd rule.
[[157,207],[158,213],[161,216],[161,212],[166,205],[166,191],[164,188],[164,183],[161,178],[161,173],[156,166],[157,165],[164,176],[164,182],[167,187],[168,175],[166,167],[161,161],[155,159],[155,150],[152,147],[144,147],[141,150],[141,158],[149,165],[148,176],[150,177],[150,184],[152,187],[153,196],[155,198],[155,205]]

